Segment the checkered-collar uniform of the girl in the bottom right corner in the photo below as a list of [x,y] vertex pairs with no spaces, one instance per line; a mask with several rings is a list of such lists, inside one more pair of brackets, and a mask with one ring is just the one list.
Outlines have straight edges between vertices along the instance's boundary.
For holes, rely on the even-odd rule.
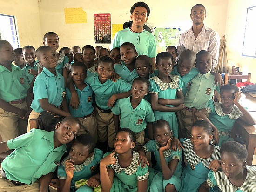
[[207,184],[209,187],[217,185],[222,192],[256,192],[256,167],[247,165],[246,168],[247,175],[240,187],[233,185],[222,169],[217,172],[210,171]]

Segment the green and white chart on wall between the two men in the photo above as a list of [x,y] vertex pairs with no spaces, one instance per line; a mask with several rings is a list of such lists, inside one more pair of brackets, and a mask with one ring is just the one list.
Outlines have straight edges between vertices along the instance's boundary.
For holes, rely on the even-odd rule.
[[180,28],[155,28],[154,30],[157,47],[165,51],[168,46],[178,46]]

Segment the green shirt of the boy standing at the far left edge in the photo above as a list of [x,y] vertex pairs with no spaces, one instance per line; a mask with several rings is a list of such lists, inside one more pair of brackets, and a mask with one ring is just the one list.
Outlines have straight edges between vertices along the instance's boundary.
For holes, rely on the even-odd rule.
[[12,71],[0,65],[0,98],[6,102],[27,97],[29,84],[20,67],[11,64]]

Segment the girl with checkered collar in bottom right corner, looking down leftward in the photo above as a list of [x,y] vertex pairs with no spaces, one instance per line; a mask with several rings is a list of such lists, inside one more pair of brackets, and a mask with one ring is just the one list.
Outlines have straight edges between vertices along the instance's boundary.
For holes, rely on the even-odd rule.
[[256,192],[256,167],[246,165],[246,148],[228,141],[221,146],[220,153],[221,169],[210,171],[198,191],[208,192],[210,187],[218,186],[222,192]]

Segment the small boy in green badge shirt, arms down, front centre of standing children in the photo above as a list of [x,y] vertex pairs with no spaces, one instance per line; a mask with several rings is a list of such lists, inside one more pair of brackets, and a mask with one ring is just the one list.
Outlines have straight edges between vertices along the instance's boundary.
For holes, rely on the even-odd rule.
[[148,101],[143,97],[148,94],[149,82],[138,77],[132,83],[132,95],[119,99],[112,108],[115,132],[120,128],[128,128],[136,134],[136,149],[145,145],[145,129],[147,127],[149,139],[153,139],[154,113]]

